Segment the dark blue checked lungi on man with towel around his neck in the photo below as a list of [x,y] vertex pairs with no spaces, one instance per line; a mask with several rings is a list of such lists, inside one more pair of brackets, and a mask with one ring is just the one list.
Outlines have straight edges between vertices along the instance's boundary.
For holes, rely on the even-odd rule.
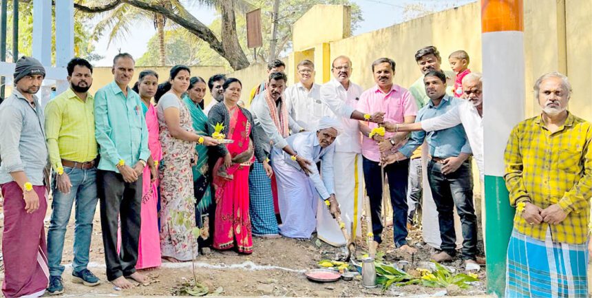
[[254,162],[249,173],[249,213],[253,235],[278,235],[277,220],[273,210],[271,179],[265,174],[261,162]]

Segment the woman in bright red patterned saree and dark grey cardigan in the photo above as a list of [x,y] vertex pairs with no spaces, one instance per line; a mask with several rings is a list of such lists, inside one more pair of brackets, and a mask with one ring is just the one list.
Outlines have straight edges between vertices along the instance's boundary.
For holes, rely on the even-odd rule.
[[235,248],[238,253],[250,254],[253,240],[249,217],[249,168],[257,158],[263,162],[269,176],[272,170],[255,136],[253,116],[237,105],[242,84],[236,78],[229,78],[222,88],[224,100],[214,105],[208,114],[209,134],[213,134],[216,125],[224,125],[220,132],[233,142],[215,147],[218,160],[212,172],[216,203],[213,248]]

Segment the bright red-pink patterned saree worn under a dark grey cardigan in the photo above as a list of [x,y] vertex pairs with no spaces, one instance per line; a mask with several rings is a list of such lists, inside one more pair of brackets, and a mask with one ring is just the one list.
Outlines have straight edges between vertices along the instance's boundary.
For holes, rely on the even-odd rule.
[[[234,140],[226,148],[234,158],[249,150],[251,123],[239,108],[229,111],[231,116],[229,134]],[[226,169],[226,178],[218,175],[224,158],[218,158],[213,169],[215,189],[215,223],[213,247],[226,250],[236,246],[239,253],[253,253],[251,218],[249,217],[249,167],[253,162],[232,164]]]

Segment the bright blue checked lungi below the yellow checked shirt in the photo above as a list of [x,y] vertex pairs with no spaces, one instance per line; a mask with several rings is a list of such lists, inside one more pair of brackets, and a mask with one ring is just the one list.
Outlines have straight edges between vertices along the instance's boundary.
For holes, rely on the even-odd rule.
[[588,297],[587,244],[553,243],[512,231],[505,297]]

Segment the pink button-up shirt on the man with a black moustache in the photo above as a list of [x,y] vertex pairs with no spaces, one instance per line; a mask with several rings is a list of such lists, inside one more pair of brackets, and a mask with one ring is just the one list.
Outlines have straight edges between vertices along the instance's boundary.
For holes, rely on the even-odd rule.
[[[374,85],[374,87],[364,91],[360,96],[357,109],[364,114],[370,115],[377,111],[383,111],[385,113],[384,120],[390,123],[403,123],[405,116],[417,115],[417,105],[411,92],[395,84],[392,85],[388,94],[382,92],[378,85]],[[370,129],[378,127],[376,123],[370,123],[369,126]],[[394,133],[387,132],[385,138],[390,138],[392,135]],[[392,150],[396,149],[398,148],[392,148]],[[377,142],[367,136],[363,136],[362,155],[369,160],[375,162],[380,161],[380,151]]]

